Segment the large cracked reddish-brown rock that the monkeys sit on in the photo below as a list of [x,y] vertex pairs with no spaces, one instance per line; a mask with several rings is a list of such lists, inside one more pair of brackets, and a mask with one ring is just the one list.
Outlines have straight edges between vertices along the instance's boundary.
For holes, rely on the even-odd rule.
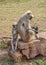
[[[12,50],[11,41],[8,42],[8,48],[9,51]],[[19,41],[17,49],[19,52],[10,53],[16,62],[20,62],[23,56],[27,59],[35,58],[37,55],[46,56],[46,39],[40,37],[30,42]]]

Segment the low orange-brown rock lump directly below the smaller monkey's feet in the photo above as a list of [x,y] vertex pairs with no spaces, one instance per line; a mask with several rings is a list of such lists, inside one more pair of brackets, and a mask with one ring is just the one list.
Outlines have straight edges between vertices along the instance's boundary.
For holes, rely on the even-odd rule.
[[10,51],[10,56],[15,62],[21,62],[22,61],[22,54],[20,52],[12,52]]

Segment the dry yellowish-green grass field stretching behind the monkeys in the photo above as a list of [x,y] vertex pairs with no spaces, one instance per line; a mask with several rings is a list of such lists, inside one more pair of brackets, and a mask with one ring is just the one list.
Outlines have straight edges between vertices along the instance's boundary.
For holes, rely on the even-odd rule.
[[11,36],[11,27],[21,14],[31,10],[35,16],[33,25],[46,31],[46,0],[20,0],[21,2],[0,2],[0,36]]

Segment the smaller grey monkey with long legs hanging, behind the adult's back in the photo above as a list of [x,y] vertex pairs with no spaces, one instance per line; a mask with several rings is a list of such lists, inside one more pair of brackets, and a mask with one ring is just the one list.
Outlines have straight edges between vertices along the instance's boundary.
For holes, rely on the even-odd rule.
[[12,28],[12,50],[13,51],[16,51],[15,47],[17,46],[17,43],[16,43],[17,36],[18,36],[18,34],[17,34],[17,27],[16,27],[16,25],[14,25],[13,28]]

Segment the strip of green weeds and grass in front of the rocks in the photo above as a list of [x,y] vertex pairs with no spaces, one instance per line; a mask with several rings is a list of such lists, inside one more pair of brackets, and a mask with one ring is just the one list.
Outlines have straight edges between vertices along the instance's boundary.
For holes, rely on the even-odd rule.
[[[34,60],[34,62],[21,62],[21,63],[16,63],[12,59],[4,59],[1,61],[3,65],[46,65],[46,60]],[[1,63],[0,62],[0,63]]]

